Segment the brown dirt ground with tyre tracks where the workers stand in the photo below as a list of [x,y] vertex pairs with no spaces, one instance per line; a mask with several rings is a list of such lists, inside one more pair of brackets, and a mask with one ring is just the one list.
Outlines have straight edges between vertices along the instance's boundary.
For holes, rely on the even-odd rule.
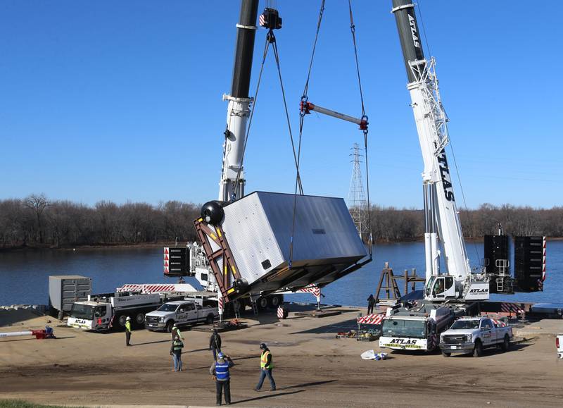
[[[481,358],[391,352],[365,361],[377,342],[336,339],[355,327],[358,309],[323,319],[274,316],[245,319],[251,327],[222,333],[232,369],[232,402],[241,407],[560,407],[563,360],[553,335],[539,334],[509,352],[486,350]],[[362,310],[365,313],[365,310]],[[45,326],[37,317],[1,332]],[[56,340],[0,339],[0,399],[50,404],[214,405],[209,334],[184,331],[184,370],[172,371],[170,335],[135,330],[134,347],[124,333],[89,333],[58,327]],[[562,326],[563,329],[563,326]],[[563,330],[562,330],[563,331]],[[277,391],[259,376],[260,342],[274,356]]]

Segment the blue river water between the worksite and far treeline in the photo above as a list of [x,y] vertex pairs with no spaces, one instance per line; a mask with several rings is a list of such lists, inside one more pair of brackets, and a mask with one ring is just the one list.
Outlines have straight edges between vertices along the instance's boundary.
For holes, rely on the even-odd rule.
[[[563,241],[549,241],[548,276],[544,292],[491,295],[492,300],[516,302],[563,302]],[[483,244],[468,242],[472,266],[483,258]],[[417,268],[424,275],[424,243],[408,242],[374,247],[374,260],[358,271],[331,283],[322,290],[323,303],[364,305],[375,292],[381,268],[388,261],[393,271]],[[0,305],[48,304],[49,275],[82,275],[92,278],[94,293],[112,292],[125,283],[174,283],[163,276],[160,248],[44,249],[0,252]],[[197,287],[194,279],[188,280]],[[403,285],[399,286],[401,291]],[[417,285],[422,289],[422,285]],[[309,294],[286,299],[314,302]]]

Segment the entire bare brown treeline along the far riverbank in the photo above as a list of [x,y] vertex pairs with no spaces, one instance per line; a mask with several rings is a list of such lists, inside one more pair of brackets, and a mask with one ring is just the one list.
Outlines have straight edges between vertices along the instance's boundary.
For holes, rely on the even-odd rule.
[[[44,195],[0,201],[0,248],[75,247],[80,245],[138,245],[195,239],[193,221],[200,205],[170,201],[115,204],[102,201],[86,206],[50,201]],[[367,214],[364,214],[364,219]],[[510,235],[563,237],[563,207],[533,209],[508,204],[483,204],[461,211],[465,237],[494,234],[498,223]],[[424,234],[422,210],[372,208],[374,240],[420,240]]]

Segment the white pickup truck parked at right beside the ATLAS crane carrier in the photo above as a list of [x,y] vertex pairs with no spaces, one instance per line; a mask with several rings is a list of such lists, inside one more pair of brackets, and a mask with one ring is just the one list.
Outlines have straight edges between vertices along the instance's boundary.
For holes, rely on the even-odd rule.
[[440,335],[440,349],[444,357],[452,353],[473,353],[481,357],[485,347],[499,346],[508,350],[512,328],[488,317],[464,317]]

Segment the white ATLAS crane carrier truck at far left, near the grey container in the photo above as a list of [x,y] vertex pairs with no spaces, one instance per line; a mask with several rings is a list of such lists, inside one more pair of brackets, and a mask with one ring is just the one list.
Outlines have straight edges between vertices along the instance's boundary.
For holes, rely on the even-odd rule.
[[171,294],[113,292],[89,295],[72,304],[67,326],[84,330],[110,330],[125,327],[127,316],[134,326],[142,326],[145,314],[170,299]]

